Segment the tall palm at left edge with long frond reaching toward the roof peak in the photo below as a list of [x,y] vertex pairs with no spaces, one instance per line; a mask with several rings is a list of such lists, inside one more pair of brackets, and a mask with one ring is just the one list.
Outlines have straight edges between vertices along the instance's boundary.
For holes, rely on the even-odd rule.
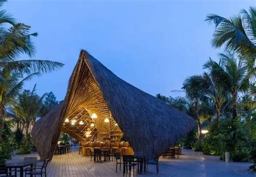
[[[0,0],[0,8],[5,1]],[[8,23],[9,26],[4,24]],[[9,13],[0,10],[0,139],[4,127],[5,105],[14,99],[24,82],[41,73],[49,73],[63,66],[49,60],[15,60],[23,53],[29,57],[35,54],[30,26],[16,23]]]

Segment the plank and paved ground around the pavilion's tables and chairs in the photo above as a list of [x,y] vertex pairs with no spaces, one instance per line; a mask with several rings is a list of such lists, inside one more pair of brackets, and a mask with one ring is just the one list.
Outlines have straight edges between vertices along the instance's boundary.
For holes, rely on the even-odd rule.
[[[213,176],[253,176],[255,172],[249,172],[249,163],[231,162],[225,163],[219,160],[219,156],[203,155],[184,149],[184,155],[180,159],[159,159],[159,171],[156,167],[149,167],[149,172],[136,176],[189,176],[189,177],[213,177]],[[24,156],[38,156],[36,153],[29,155],[14,155],[13,162],[22,161]],[[39,159],[39,157],[38,157]],[[116,173],[115,162],[94,163],[90,157],[78,155],[77,151],[64,155],[53,156],[48,166],[48,176],[123,176],[122,171]],[[130,176],[128,174],[126,176]],[[131,175],[132,176],[132,175]]]

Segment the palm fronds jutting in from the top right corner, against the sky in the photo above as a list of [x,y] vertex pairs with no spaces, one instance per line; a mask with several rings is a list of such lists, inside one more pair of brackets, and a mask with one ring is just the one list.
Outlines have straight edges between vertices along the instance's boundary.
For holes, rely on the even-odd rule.
[[226,51],[239,52],[255,61],[256,57],[256,9],[241,12],[229,19],[215,14],[206,16],[206,21],[215,24],[212,45],[224,46]]

